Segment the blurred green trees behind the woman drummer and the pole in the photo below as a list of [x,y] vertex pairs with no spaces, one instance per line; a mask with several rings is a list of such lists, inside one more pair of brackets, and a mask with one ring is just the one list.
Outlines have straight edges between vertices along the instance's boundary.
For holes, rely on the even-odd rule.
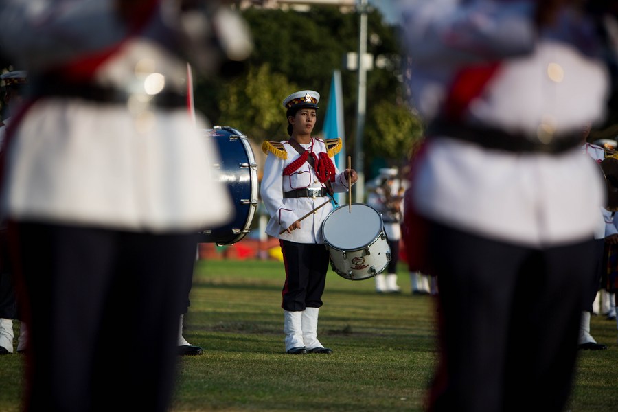
[[[285,112],[281,106],[286,95],[301,89],[321,93],[321,112],[316,131],[322,129],[330,82],[334,69],[341,70],[346,150],[352,153],[356,133],[358,73],[343,67],[345,55],[358,51],[356,13],[343,14],[331,6],[312,7],[307,12],[248,8],[242,16],[249,23],[255,48],[245,63],[244,72],[235,78],[225,73],[213,78],[196,79],[196,108],[213,124],[231,126],[261,143],[264,139],[284,139]],[[393,102],[402,101],[399,45],[395,27],[384,23],[377,10],[368,19],[367,52],[376,65],[367,73],[368,123],[397,125],[404,106],[396,111]],[[390,106],[389,106],[390,103]],[[379,113],[374,113],[374,111]],[[409,115],[409,113],[408,113]],[[390,121],[389,121],[390,119]],[[371,156],[396,155],[393,150],[376,150],[385,141],[413,138],[396,127],[365,124],[365,152]],[[385,133],[396,135],[385,137]],[[406,147],[411,143],[406,144]],[[376,151],[376,154],[373,152]],[[365,163],[368,167],[368,162]],[[367,173],[367,170],[365,170]]]

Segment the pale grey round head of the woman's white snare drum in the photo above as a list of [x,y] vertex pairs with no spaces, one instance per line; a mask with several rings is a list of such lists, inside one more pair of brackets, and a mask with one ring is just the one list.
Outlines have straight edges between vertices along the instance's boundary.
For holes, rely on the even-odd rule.
[[339,250],[354,251],[376,240],[383,227],[382,216],[376,209],[354,203],[351,208],[340,206],[331,211],[322,229],[327,244]]

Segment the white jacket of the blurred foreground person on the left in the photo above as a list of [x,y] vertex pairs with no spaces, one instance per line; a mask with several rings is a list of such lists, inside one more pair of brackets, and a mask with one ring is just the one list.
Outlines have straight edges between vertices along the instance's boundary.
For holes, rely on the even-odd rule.
[[31,83],[117,47],[87,81],[128,98],[106,102],[76,93],[36,100],[9,137],[3,214],[130,231],[225,224],[231,202],[225,186],[210,178],[218,152],[200,131],[205,119],[194,121],[182,103],[156,103],[159,92],[187,89],[187,63],[173,44],[151,35],[172,29],[155,13],[142,32],[129,35],[114,1],[57,3],[3,3],[0,47],[30,69]]

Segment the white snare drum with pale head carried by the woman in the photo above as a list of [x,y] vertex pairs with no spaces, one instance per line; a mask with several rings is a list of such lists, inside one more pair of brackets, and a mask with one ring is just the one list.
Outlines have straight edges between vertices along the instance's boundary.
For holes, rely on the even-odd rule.
[[374,277],[391,260],[382,216],[364,203],[331,211],[322,224],[322,233],[330,253],[330,266],[345,279]]

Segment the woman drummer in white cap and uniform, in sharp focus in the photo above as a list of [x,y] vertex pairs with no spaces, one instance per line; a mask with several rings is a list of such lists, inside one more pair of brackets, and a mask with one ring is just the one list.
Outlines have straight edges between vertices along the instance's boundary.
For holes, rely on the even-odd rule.
[[333,209],[332,192],[346,192],[358,179],[354,169],[339,172],[332,161],[341,150],[341,139],[311,136],[319,98],[312,90],[289,95],[283,106],[290,139],[262,145],[268,156],[260,194],[271,216],[266,233],[279,238],[286,271],[282,291],[286,354],[332,353],[317,339],[329,262],[321,225]]

